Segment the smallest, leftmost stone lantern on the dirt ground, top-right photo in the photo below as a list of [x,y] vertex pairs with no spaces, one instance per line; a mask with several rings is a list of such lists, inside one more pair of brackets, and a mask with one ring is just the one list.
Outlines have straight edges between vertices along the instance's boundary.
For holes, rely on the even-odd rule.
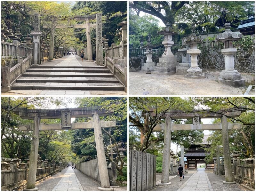
[[144,45],[143,48],[144,47],[146,48],[144,54],[146,54],[147,60],[146,63],[143,63],[143,66],[141,67],[141,72],[146,72],[147,74],[150,74],[155,67],[155,62],[152,61],[152,55],[154,52],[153,46],[151,45],[151,34],[148,34],[147,44]]

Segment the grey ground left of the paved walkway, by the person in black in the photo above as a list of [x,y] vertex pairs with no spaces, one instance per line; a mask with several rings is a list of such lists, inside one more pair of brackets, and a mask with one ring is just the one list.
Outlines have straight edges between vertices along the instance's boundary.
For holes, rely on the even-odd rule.
[[156,188],[150,189],[150,191],[177,191],[193,174],[185,174],[185,178],[180,181],[179,176],[169,180],[172,182],[171,185],[157,186]]

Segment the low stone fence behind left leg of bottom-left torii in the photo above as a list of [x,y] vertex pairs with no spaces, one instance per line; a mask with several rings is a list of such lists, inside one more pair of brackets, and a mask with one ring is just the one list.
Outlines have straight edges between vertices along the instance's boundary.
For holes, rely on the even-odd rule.
[[[37,168],[36,181],[66,168],[66,165]],[[2,170],[1,190],[23,190],[27,186],[28,169]]]

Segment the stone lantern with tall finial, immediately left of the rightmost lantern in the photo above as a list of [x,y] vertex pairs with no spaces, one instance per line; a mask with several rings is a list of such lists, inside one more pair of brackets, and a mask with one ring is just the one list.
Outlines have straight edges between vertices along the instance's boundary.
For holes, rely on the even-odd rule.
[[201,43],[203,39],[196,36],[195,25],[196,24],[192,23],[192,34],[184,39],[184,43],[189,45],[187,53],[191,56],[191,66],[187,70],[185,77],[200,79],[205,77],[203,70],[197,65],[197,55],[201,53],[201,50],[197,49],[197,44]]

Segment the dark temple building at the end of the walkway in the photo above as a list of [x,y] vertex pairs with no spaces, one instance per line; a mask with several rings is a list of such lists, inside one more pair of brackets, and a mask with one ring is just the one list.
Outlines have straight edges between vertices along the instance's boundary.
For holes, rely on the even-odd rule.
[[184,157],[187,158],[187,169],[197,169],[197,164],[205,164],[205,169],[214,169],[213,160],[211,163],[206,164],[204,158],[210,153],[205,152],[203,147],[210,146],[207,138],[210,135],[204,135],[203,142],[198,144],[193,144],[189,149],[185,150]]

